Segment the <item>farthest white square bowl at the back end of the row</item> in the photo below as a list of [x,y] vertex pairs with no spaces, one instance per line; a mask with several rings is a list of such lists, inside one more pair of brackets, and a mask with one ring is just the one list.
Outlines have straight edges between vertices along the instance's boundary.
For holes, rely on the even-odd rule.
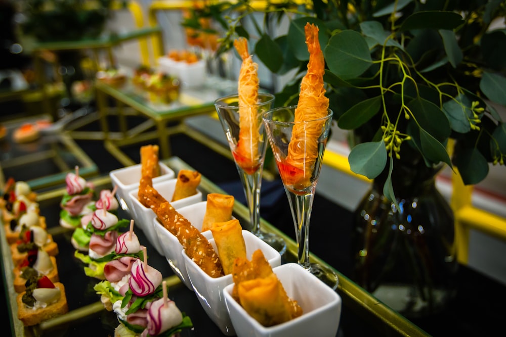
[[[153,178],[153,184],[155,182],[173,179],[176,176],[176,173],[167,165],[163,163],[158,163],[158,165],[160,166],[160,175]],[[142,164],[137,164],[116,169],[109,173],[112,186],[117,186],[116,198],[118,199],[119,206],[127,212],[132,209],[132,202],[128,194],[130,191],[139,188],[141,167]]]

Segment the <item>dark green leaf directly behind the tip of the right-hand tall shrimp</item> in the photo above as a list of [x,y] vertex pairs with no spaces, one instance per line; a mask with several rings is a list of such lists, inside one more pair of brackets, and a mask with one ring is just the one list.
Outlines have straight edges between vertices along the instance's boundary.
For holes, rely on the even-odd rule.
[[320,41],[320,47],[322,50],[325,48],[325,45],[327,45],[328,41],[328,36],[324,33],[326,27],[323,21],[312,17],[302,17],[290,21],[290,26],[288,27],[288,45],[293,55],[299,61],[309,60],[308,46],[306,45],[306,33],[304,32],[304,26],[306,26],[308,22],[315,24],[320,29],[318,40]]

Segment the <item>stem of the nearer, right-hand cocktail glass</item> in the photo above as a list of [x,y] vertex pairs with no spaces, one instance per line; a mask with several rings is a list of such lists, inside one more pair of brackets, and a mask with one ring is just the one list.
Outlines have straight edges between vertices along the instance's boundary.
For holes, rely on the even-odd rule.
[[309,221],[314,200],[314,191],[306,195],[296,195],[288,190],[288,202],[290,203],[291,216],[297,235],[298,261],[301,266],[311,270],[309,262]]

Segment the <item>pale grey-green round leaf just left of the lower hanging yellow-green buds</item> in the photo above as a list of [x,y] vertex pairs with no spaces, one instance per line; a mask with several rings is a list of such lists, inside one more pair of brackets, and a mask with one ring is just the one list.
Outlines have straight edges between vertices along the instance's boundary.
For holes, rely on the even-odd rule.
[[387,164],[385,142],[380,140],[358,144],[351,150],[348,161],[353,172],[369,179],[377,177]]

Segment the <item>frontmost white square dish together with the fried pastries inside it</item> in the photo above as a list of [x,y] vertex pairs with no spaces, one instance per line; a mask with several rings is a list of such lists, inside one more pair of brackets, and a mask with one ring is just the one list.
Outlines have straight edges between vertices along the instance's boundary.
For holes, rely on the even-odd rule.
[[261,271],[255,261],[239,267],[240,279],[223,290],[232,325],[241,337],[335,336],[341,297],[297,263]]

